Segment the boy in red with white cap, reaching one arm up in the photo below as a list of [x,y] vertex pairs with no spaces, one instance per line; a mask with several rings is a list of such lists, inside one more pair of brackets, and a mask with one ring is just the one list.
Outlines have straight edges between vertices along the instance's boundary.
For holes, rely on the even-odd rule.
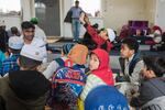
[[113,42],[116,38],[114,31],[111,29],[105,29],[98,34],[98,32],[90,25],[89,19],[85,13],[81,13],[80,22],[90,34],[91,40],[97,44],[97,47],[110,52],[110,50],[113,47],[111,42]]

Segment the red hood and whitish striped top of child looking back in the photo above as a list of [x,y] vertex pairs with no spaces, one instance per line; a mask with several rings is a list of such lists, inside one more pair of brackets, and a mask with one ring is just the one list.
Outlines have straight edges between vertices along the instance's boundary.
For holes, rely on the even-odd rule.
[[109,55],[105,50],[96,48],[91,53],[96,54],[99,58],[98,69],[91,70],[91,74],[87,77],[86,86],[80,95],[82,100],[86,99],[88,92],[97,86],[108,85],[113,86],[112,70],[109,67]]

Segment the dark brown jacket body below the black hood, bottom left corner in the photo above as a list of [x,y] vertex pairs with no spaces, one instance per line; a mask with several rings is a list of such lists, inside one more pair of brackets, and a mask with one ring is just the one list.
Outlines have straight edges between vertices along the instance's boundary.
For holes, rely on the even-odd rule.
[[44,110],[46,98],[23,100],[13,91],[9,77],[0,79],[0,110]]

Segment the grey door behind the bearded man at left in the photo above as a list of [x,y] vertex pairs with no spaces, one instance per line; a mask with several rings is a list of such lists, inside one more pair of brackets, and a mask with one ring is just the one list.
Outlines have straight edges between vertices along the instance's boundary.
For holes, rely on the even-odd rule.
[[47,36],[61,35],[59,0],[35,0],[35,15]]

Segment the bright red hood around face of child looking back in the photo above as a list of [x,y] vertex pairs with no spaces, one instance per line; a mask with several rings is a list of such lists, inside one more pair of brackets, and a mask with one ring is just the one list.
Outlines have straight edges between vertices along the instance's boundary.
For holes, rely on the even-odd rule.
[[101,48],[96,48],[91,53],[96,54],[100,62],[98,69],[92,70],[91,74],[102,79],[107,85],[113,86],[113,75],[109,67],[109,54]]

